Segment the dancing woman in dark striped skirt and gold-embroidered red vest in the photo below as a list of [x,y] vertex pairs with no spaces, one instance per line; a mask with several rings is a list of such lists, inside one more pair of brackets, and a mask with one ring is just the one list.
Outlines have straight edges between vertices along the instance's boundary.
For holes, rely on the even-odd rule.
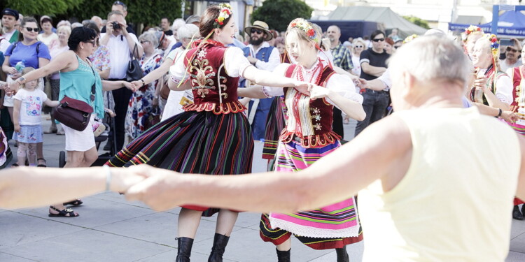
[[[259,85],[297,87],[307,83],[260,71],[233,42],[237,27],[227,3],[209,6],[200,20],[200,34],[193,48],[181,54],[170,68],[170,88],[193,89],[194,103],[179,115],[156,124],[133,140],[109,166],[148,163],[181,173],[235,175],[251,172],[253,137],[244,108],[237,101],[239,77]],[[218,196],[220,197],[220,196]],[[179,214],[176,261],[190,261],[200,217],[218,212],[214,246],[209,261],[222,261],[238,211],[185,205]]]

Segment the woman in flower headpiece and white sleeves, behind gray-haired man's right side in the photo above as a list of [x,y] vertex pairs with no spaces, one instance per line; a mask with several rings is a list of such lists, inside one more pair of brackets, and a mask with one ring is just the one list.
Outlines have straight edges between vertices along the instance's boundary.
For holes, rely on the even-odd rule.
[[493,34],[479,38],[472,51],[475,80],[470,89],[470,100],[502,111],[510,110],[512,80],[499,70],[499,43]]

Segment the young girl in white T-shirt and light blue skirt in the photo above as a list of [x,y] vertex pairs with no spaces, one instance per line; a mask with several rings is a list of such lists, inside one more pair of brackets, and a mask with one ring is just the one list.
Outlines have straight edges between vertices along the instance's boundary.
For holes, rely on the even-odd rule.
[[[25,75],[34,71],[32,67],[26,67],[22,71]],[[23,88],[13,96],[13,124],[15,133],[13,139],[18,141],[18,162],[13,166],[24,165],[26,157],[29,166],[36,166],[36,143],[42,142],[41,114],[42,104],[55,107],[58,101],[48,100],[48,96],[36,89],[38,80],[26,82]]]

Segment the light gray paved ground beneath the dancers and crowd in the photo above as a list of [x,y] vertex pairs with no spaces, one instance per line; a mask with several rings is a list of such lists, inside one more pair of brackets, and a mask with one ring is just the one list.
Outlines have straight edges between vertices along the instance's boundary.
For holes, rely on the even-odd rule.
[[[49,121],[45,121],[49,124]],[[48,126],[43,126],[46,130]],[[345,125],[353,133],[353,125]],[[348,138],[348,136],[346,137]],[[16,147],[11,147],[16,150]],[[48,166],[58,166],[64,136],[44,135]],[[262,143],[255,141],[253,171],[262,172]],[[15,151],[16,154],[16,151]],[[53,189],[59,190],[59,189]],[[0,261],[174,261],[179,208],[154,212],[143,203],[130,203],[115,193],[83,198],[76,218],[48,217],[47,208],[0,210]],[[509,214],[510,215],[510,214]],[[224,254],[224,261],[276,261],[274,245],[259,238],[260,214],[241,213]],[[203,218],[191,259],[207,261],[216,216]],[[507,261],[525,261],[525,221],[512,221]],[[336,261],[331,250],[313,250],[292,240],[292,261]],[[361,261],[363,242],[349,245],[350,261]]]

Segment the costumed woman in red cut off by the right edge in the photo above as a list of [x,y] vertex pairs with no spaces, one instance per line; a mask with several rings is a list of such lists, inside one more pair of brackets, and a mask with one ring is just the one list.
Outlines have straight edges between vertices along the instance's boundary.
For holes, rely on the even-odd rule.
[[[525,46],[521,49],[521,61],[525,61]],[[512,84],[514,89],[512,90],[512,103],[510,104],[510,110],[512,112],[517,112],[521,120],[518,120],[516,123],[509,123],[514,131],[517,131],[521,135],[525,136],[525,121],[523,120],[525,116],[525,65],[517,66],[510,68],[507,73],[512,79]],[[521,211],[519,206],[525,203],[519,198],[514,198],[514,210],[512,210],[512,218],[517,220],[523,220],[525,214],[525,205],[521,206]]]

